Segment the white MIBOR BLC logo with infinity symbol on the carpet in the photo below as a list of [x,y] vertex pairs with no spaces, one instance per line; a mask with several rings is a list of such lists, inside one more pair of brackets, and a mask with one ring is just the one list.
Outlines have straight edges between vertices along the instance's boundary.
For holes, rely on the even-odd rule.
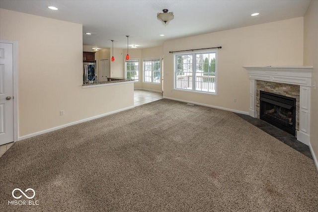
[[[32,193],[28,192],[28,191],[32,191]],[[28,196],[26,193],[30,196]],[[19,200],[23,197],[22,195],[29,200],[28,201]],[[14,205],[14,206],[37,206],[37,205],[39,205],[38,200],[36,200],[36,201],[31,200],[35,197],[35,191],[31,188],[28,188],[24,192],[19,188],[15,188],[12,191],[12,197],[14,199],[17,199],[17,200],[8,201],[8,205]]]

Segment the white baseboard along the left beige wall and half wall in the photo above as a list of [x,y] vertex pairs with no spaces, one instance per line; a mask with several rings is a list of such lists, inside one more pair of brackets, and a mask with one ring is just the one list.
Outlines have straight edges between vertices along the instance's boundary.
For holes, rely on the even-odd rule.
[[52,132],[52,131],[55,131],[55,130],[59,130],[59,129],[62,129],[62,128],[65,128],[65,127],[72,126],[72,125],[76,125],[76,124],[79,124],[79,123],[82,123],[82,122],[87,122],[87,121],[90,121],[90,120],[93,120],[93,119],[101,118],[103,116],[108,116],[110,114],[118,113],[118,112],[121,112],[121,111],[124,111],[124,110],[128,110],[128,109],[131,109],[131,108],[134,108],[134,107],[135,106],[126,107],[126,108],[123,108],[123,109],[119,109],[119,110],[111,111],[111,112],[108,112],[108,113],[104,113],[104,114],[101,114],[101,115],[98,115],[98,116],[93,116],[93,117],[82,119],[82,120],[79,120],[79,121],[76,121],[76,122],[71,122],[69,124],[65,124],[65,125],[57,126],[57,127],[50,128],[50,129],[47,129],[47,130],[43,130],[43,131],[40,131],[40,132],[31,133],[29,135],[25,135],[25,136],[19,137],[18,141],[23,140],[23,139],[28,139],[28,138],[31,138],[31,137],[34,137],[34,136],[38,136],[38,135],[41,135],[41,134],[44,134],[44,133],[49,133],[49,132]]

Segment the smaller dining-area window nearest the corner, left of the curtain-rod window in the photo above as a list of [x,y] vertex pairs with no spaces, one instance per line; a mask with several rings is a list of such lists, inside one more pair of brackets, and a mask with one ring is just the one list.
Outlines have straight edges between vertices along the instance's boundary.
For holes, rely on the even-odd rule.
[[144,62],[144,82],[160,83],[160,58],[146,58]]

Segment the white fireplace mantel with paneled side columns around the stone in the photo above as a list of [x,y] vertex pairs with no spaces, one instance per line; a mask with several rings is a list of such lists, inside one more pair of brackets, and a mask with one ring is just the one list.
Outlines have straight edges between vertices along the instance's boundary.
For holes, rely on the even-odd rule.
[[256,118],[256,80],[300,86],[299,131],[297,140],[309,145],[310,99],[313,67],[243,67],[249,77],[249,115]]

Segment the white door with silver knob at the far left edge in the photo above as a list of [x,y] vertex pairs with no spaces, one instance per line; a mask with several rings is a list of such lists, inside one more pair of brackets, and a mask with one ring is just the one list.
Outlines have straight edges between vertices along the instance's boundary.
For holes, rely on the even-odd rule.
[[0,145],[13,141],[13,45],[0,43]]

